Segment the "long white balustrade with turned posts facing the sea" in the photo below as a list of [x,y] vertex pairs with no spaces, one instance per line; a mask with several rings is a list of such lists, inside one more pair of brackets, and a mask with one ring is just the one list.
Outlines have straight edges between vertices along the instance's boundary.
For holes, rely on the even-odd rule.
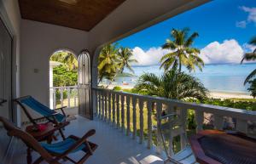
[[[153,136],[156,135],[154,139],[156,139],[156,150],[158,153],[162,150],[159,131],[160,122],[157,122],[157,128],[155,129],[155,126],[153,126],[153,120],[155,122],[156,118],[160,118],[163,110],[177,115],[177,122],[170,123],[171,136],[180,136],[180,147],[182,149],[188,142],[186,136],[188,110],[195,111],[197,132],[201,131],[204,127],[204,113],[209,113],[213,116],[213,127],[220,130],[224,129],[224,117],[235,118],[236,130],[247,134],[249,134],[247,122],[256,122],[256,111],[240,110],[216,105],[188,103],[179,100],[144,96],[135,93],[117,92],[103,88],[94,88],[94,90],[96,91],[96,99],[93,100],[97,103],[96,109],[94,110],[96,110],[96,114],[99,118],[112,122],[111,124],[114,127],[120,128],[121,131],[126,133],[128,136],[130,136],[132,131],[132,139],[138,139],[140,144],[142,144],[144,138],[146,138],[148,149],[152,148],[154,142]],[[154,110],[156,110],[156,112]],[[144,116],[148,117],[148,125],[144,125],[144,119],[146,119]],[[144,129],[144,127],[147,128]],[[173,154],[174,146],[172,145],[172,137],[168,140],[168,143],[169,151]]]

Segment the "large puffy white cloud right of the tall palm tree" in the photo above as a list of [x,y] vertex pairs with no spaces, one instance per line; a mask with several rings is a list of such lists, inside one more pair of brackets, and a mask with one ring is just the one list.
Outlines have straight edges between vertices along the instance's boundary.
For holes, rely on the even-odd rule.
[[206,64],[239,63],[244,54],[235,39],[211,42],[201,49],[200,57]]

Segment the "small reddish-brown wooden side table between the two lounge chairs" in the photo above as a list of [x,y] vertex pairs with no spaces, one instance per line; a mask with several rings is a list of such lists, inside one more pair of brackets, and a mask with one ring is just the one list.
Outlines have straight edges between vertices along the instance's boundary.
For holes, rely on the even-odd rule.
[[[37,131],[35,130],[34,125],[30,125],[26,127],[26,133],[29,133],[32,135],[33,138],[37,139],[38,142],[40,141],[47,141],[48,143],[51,143],[52,139],[55,139],[54,133],[55,133],[55,127],[51,122],[45,123],[45,129],[44,131]],[[27,147],[26,150],[26,162],[27,164],[32,163],[32,156],[31,156],[31,149]]]

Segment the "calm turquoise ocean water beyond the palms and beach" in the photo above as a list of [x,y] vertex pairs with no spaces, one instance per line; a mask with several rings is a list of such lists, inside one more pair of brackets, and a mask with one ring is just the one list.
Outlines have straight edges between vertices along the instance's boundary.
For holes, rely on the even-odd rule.
[[[134,86],[139,76],[143,73],[150,72],[160,76],[163,70],[160,65],[150,66],[133,66],[134,77],[118,77],[114,84]],[[205,65],[203,71],[190,72],[190,74],[198,77],[201,82],[210,91],[227,92],[227,93],[248,93],[247,85],[243,82],[247,75],[256,68],[256,64],[224,64],[224,65]],[[186,69],[183,69],[186,71]],[[125,70],[125,72],[129,72]],[[188,72],[188,71],[186,71]],[[188,72],[189,73],[189,72]]]

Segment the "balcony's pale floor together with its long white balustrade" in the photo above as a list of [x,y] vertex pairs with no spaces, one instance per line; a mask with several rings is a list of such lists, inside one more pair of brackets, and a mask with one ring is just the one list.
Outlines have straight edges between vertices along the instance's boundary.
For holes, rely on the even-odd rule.
[[[255,137],[255,127],[253,127],[253,122],[256,122],[255,111],[184,103],[102,88],[93,89],[93,98],[95,119],[89,121],[82,116],[76,116],[65,130],[66,135],[82,136],[91,128],[96,129],[96,136],[91,137],[90,140],[98,144],[99,148],[87,161],[88,164],[163,163],[166,157],[156,122],[156,118],[161,116],[163,110],[178,116],[177,122],[171,127],[173,138],[167,141],[168,150],[176,159],[183,158],[179,151],[184,150],[189,144],[186,139],[189,133],[184,133],[189,132],[186,126],[188,110],[195,111],[196,131],[203,129],[204,124],[207,123],[206,117],[211,115],[213,128],[223,130],[226,128],[226,123],[231,120],[234,130]],[[176,141],[173,142],[177,136],[180,136],[179,140],[175,139]],[[13,160],[10,163],[20,164],[20,161],[26,163],[26,146],[17,140],[15,143],[20,149],[15,149],[14,158],[9,158]],[[38,154],[33,152],[32,156],[35,158]],[[73,156],[74,159],[76,157],[79,158],[79,155]],[[189,156],[181,162],[194,163],[195,157]]]

